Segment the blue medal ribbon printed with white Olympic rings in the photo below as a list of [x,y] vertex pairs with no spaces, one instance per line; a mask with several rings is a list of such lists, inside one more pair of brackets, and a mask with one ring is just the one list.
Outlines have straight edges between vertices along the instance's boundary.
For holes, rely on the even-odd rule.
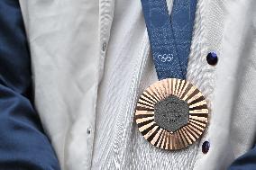
[[142,10],[159,80],[186,79],[197,0],[142,0]]

